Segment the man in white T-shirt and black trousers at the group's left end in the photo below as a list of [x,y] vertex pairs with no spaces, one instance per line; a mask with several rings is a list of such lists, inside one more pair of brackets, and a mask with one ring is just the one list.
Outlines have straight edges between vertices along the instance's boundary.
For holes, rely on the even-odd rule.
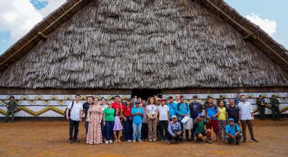
[[[80,95],[75,96],[75,101],[71,102],[66,110],[66,119],[69,120],[69,143],[79,142],[78,141],[78,131],[79,131],[79,122],[82,121],[83,114],[83,105],[80,102]],[[70,115],[69,115],[70,112]],[[73,136],[74,128],[74,136]]]

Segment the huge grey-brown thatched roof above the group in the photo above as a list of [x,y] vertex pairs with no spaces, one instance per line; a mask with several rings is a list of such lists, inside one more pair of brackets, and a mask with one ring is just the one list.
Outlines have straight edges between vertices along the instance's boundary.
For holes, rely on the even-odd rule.
[[1,55],[0,87],[287,86],[287,60],[222,0],[67,1]]

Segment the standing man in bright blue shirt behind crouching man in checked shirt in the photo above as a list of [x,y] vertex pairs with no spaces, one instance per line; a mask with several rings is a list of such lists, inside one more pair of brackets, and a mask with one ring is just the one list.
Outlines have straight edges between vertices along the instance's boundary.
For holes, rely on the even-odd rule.
[[[179,118],[179,122],[181,124],[181,128],[183,128],[183,123],[181,122],[181,120],[185,117],[185,116],[189,116],[190,117],[190,109],[189,109],[189,105],[184,102],[184,97],[181,95],[180,96],[180,102],[177,104],[177,109],[176,109],[176,113],[178,114],[178,118]],[[186,140],[189,140],[189,130],[185,130],[185,137]]]

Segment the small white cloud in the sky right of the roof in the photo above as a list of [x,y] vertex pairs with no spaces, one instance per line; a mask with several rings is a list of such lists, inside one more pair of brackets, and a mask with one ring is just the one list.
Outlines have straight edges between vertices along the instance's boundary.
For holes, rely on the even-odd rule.
[[273,35],[274,33],[276,33],[276,21],[270,19],[262,19],[258,15],[255,15],[255,13],[251,13],[250,15],[246,15],[245,17],[254,24],[260,26],[260,28],[262,28],[262,30],[268,33],[268,35]]

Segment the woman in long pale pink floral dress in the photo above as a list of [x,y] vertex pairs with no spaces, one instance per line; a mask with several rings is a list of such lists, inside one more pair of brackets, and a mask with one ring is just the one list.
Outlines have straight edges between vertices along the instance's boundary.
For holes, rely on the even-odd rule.
[[89,144],[102,143],[101,117],[102,107],[98,102],[98,98],[95,98],[94,104],[89,108],[87,115],[87,121],[89,122],[87,143]]

